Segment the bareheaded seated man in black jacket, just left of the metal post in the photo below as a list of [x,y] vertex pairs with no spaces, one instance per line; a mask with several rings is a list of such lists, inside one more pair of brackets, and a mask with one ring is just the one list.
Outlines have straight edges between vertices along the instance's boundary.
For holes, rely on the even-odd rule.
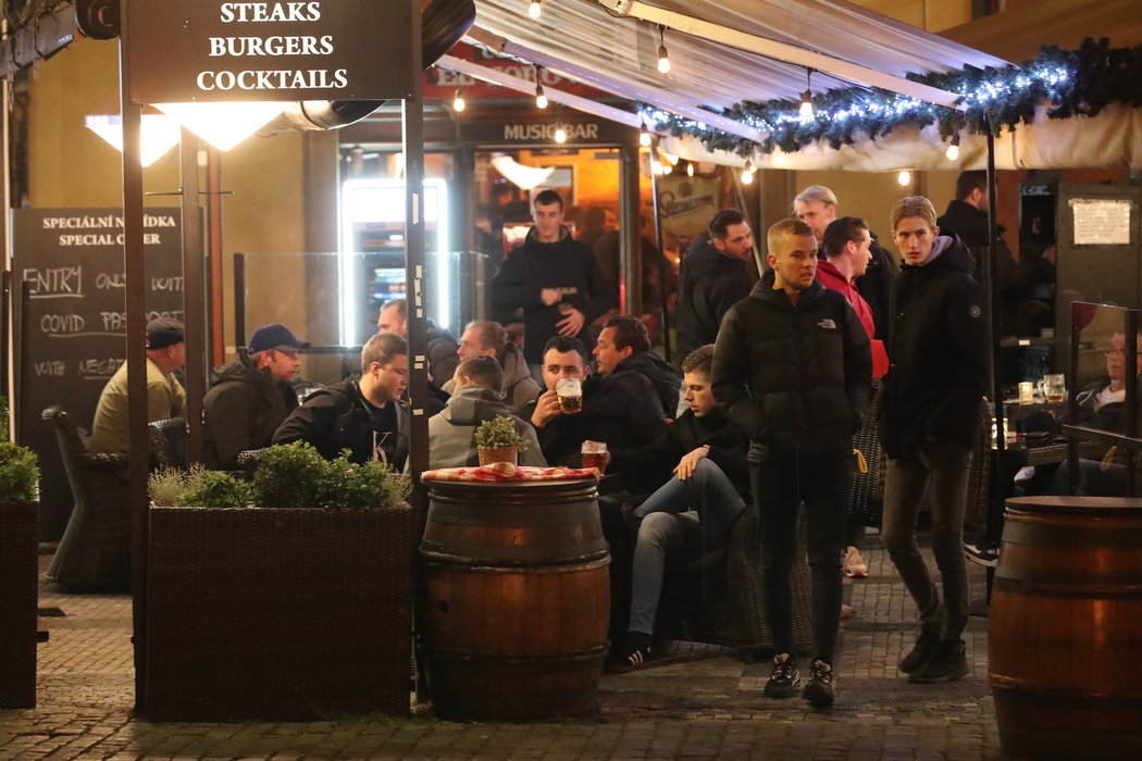
[[327,460],[341,450],[352,462],[380,460],[401,471],[409,456],[409,347],[395,333],[377,333],[361,349],[361,380],[311,394],[274,434],[274,444],[307,442]]

